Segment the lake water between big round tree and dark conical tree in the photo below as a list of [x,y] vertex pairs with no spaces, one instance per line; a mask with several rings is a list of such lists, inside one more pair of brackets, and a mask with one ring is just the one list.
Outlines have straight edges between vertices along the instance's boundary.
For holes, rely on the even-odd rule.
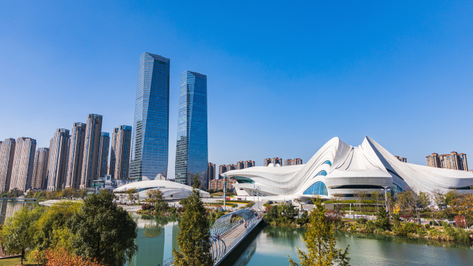
[[155,266],[172,255],[172,248],[178,249],[178,219],[165,216],[133,215],[138,224],[138,254],[127,264],[129,266]]

